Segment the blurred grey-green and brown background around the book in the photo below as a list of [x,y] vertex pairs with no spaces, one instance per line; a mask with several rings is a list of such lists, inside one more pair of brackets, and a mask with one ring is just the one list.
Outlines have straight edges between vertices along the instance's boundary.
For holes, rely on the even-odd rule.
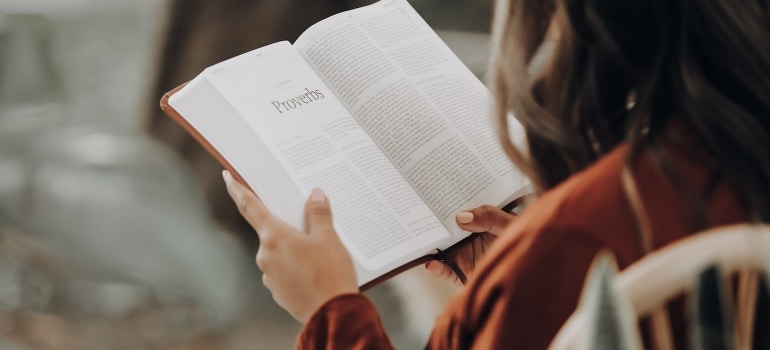
[[[483,77],[492,0],[412,0]],[[0,350],[290,349],[221,167],[158,108],[363,0],[0,0]],[[453,287],[367,294],[420,348]]]

